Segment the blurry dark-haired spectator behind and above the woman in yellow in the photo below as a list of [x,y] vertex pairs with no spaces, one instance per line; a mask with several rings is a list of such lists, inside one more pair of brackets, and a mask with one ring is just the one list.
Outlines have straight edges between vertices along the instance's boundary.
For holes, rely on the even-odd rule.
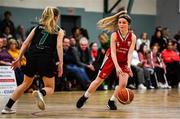
[[19,25],[17,27],[17,33],[16,33],[16,39],[17,42],[19,44],[19,47],[21,47],[22,43],[25,41],[26,39],[26,35],[25,35],[25,29],[23,25]]

